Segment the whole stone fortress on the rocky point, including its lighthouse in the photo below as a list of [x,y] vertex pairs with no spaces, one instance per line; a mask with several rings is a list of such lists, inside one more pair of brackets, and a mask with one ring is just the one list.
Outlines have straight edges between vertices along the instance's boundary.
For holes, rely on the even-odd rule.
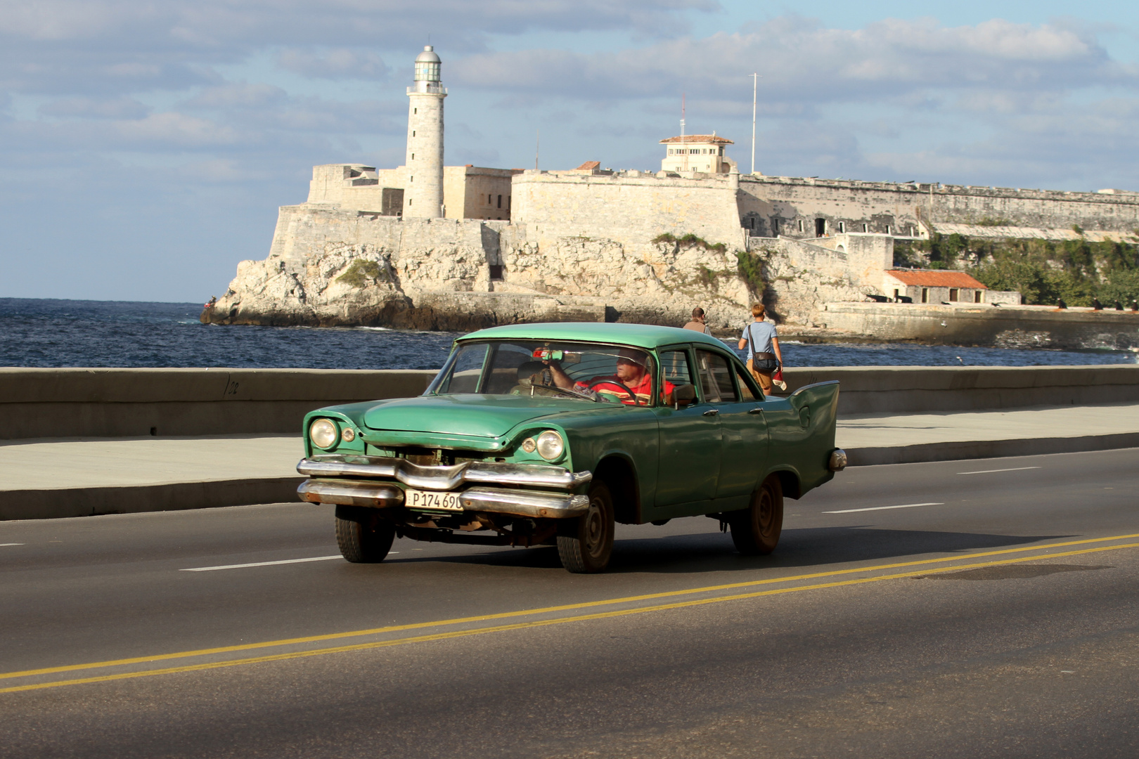
[[[1062,335],[1030,314],[1040,306],[1019,306],[1018,294],[990,290],[964,272],[894,266],[895,240],[935,234],[1139,242],[1137,192],[741,175],[727,155],[732,141],[715,132],[661,140],[655,172],[596,160],[564,171],[444,166],[441,68],[429,46],[416,58],[404,165],[314,166],[306,201],[280,208],[269,257],[241,262],[204,321],[679,325],[702,305],[714,329],[735,329],[762,298],[781,322],[805,329],[1139,345],[1134,324],[1124,335],[1099,323],[1125,315],[1089,316]],[[957,307],[991,311],[969,316],[983,328],[954,331],[958,317],[939,310]],[[1009,327],[1014,310],[1024,310],[1023,319]]]

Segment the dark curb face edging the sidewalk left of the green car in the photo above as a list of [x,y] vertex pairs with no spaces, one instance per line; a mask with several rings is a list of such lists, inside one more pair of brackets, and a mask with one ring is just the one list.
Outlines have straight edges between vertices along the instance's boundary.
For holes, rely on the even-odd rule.
[[304,477],[162,482],[43,490],[0,490],[0,521],[60,519],[145,511],[183,511],[297,501]]

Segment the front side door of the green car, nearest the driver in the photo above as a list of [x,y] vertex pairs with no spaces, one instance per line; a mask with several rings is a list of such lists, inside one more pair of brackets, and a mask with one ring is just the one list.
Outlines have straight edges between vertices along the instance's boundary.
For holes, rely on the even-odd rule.
[[658,397],[654,409],[661,436],[655,518],[704,513],[715,497],[720,475],[723,443],[719,413],[708,413],[712,407],[696,388],[690,348],[665,348],[657,355],[662,378],[675,389],[671,404],[661,403]]

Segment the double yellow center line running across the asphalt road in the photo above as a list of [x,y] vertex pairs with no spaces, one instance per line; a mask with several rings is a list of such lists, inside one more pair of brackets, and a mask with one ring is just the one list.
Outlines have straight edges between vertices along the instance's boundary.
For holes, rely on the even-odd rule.
[[[1068,541],[1065,543],[1050,543],[1046,545],[1034,545],[1034,546],[1023,546],[1018,548],[1005,548],[1001,551],[986,551],[982,553],[970,553],[966,555],[957,556],[942,556],[939,559],[921,559],[918,561],[903,561],[890,564],[876,564],[872,567],[854,567],[851,569],[839,569],[827,572],[811,572],[806,575],[793,575],[788,577],[771,577],[767,579],[749,580],[745,583],[729,583],[724,585],[708,585],[705,587],[681,589],[681,591],[665,591],[661,593],[648,593],[644,595],[631,595],[620,599],[605,599],[601,601],[587,601],[582,603],[571,603],[557,607],[544,607],[541,609],[527,609],[521,611],[506,611],[494,614],[480,614],[476,617],[459,617],[456,619],[441,619],[426,622],[413,622],[410,625],[392,625],[388,627],[376,627],[371,629],[362,630],[351,630],[346,633],[331,633],[327,635],[311,635],[306,637],[294,637],[284,638],[279,641],[265,641],[261,643],[244,643],[240,645],[229,645],[220,646],[214,649],[198,649],[195,651],[181,651],[177,653],[161,653],[148,657],[136,657],[131,659],[115,659],[110,661],[96,661],[81,665],[67,665],[63,667],[46,667],[42,669],[25,669],[15,673],[2,673],[0,674],[0,680],[11,680],[19,678],[34,678],[42,677],[46,675],[62,675],[64,673],[79,673],[84,670],[93,669],[107,669],[115,667],[131,667],[134,665],[148,665],[159,661],[171,661],[177,659],[192,659],[202,657],[218,657],[227,653],[236,653],[243,651],[256,651],[264,649],[274,649],[282,646],[303,646],[313,643],[325,643],[330,641],[338,641],[352,637],[367,637],[376,635],[390,635],[395,633],[407,633],[410,630],[425,629],[425,628],[439,628],[459,625],[477,625],[478,622],[499,621],[507,619],[516,619],[519,617],[536,617],[543,614],[558,614],[559,612],[567,611],[580,611],[584,609],[598,609],[611,605],[618,604],[636,604],[644,603],[646,601],[658,601],[663,599],[675,599],[681,596],[691,596],[700,594],[718,594],[711,597],[702,599],[690,599],[687,601],[672,601],[669,603],[656,603],[650,605],[639,605],[630,609],[614,609],[611,611],[597,611],[593,613],[585,614],[571,614],[571,616],[557,616],[550,619],[534,619],[528,621],[509,622],[501,625],[490,625],[490,626],[475,626],[465,629],[448,630],[442,633],[431,633],[427,635],[411,635],[403,637],[393,637],[384,641],[369,641],[367,643],[354,643],[349,645],[334,645],[334,646],[321,646],[321,647],[310,647],[301,651],[287,651],[282,653],[270,653],[257,657],[243,657],[236,659],[220,659],[213,661],[204,661],[200,663],[182,665],[177,667],[163,667],[157,669],[141,669],[133,671],[123,673],[108,673],[105,675],[93,675],[89,677],[79,677],[71,679],[58,679],[50,682],[35,682],[25,685],[13,685],[9,687],[0,688],[0,693],[16,693],[19,691],[36,691],[49,687],[60,687],[64,685],[82,685],[88,683],[105,683],[108,680],[118,679],[130,679],[134,677],[151,677],[155,675],[169,675],[173,673],[189,673],[204,669],[218,669],[221,667],[236,667],[238,665],[253,665],[263,661],[281,661],[285,659],[301,659],[304,657],[318,657],[329,653],[343,653],[346,651],[362,651],[364,649],[383,649],[387,646],[405,645],[409,643],[424,643],[427,641],[443,641],[448,638],[467,637],[473,635],[485,635],[489,633],[502,633],[507,630],[521,630],[531,629],[536,627],[548,627],[550,625],[564,625],[566,622],[579,622],[588,621],[595,619],[608,619],[613,617],[625,617],[630,614],[642,614],[654,611],[667,611],[671,609],[683,609],[686,607],[699,607],[712,603],[721,603],[724,601],[740,601],[744,599],[756,599],[765,595],[780,595],[785,593],[800,593],[803,591],[818,591],[822,588],[831,587],[843,587],[846,585],[862,585],[866,583],[879,583],[888,579],[898,579],[900,577],[912,577],[919,574],[931,574],[931,572],[944,572],[944,571],[956,571],[961,569],[975,569],[981,567],[992,567],[994,564],[1011,564],[1023,561],[1038,561],[1040,559],[1058,559],[1062,556],[1075,556],[1081,554],[1098,553],[1101,551],[1117,551],[1120,548],[1136,548],[1139,547],[1139,543],[1114,543],[1117,541],[1128,541],[1132,538],[1139,538],[1139,533],[1133,535],[1115,535],[1112,537],[1100,537],[1100,538],[1089,538],[1083,541]],[[1072,548],[1072,546],[1088,546],[1092,544],[1104,544],[1114,543],[1113,545],[1093,545],[1092,547],[1074,548],[1070,551],[1052,552],[1056,548]],[[1044,553],[1033,553],[1032,555],[1013,556],[998,559],[994,561],[982,561],[975,562],[976,559],[986,559],[991,556],[1010,556],[1011,554],[1027,553],[1027,552],[1044,552]],[[974,562],[974,563],[957,563],[957,562]],[[942,566],[937,564],[951,564]],[[907,569],[923,567],[924,569],[908,569],[901,572],[890,572],[888,570],[894,569]],[[887,572],[883,575],[874,575],[872,577],[859,577],[853,579],[830,579],[826,583],[809,583],[805,585],[794,585],[792,587],[780,587],[770,588],[761,591],[751,591],[746,593],[724,593],[726,591],[738,591],[743,588],[760,587],[764,585],[775,584],[787,584],[787,583],[802,583],[809,580],[816,580],[820,578],[837,578],[849,575],[859,575],[867,572]]]

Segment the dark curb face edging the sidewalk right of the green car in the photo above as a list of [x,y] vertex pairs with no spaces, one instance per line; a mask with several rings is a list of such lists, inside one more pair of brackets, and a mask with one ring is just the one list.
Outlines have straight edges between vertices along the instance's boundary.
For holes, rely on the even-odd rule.
[[1082,437],[959,440],[896,447],[849,448],[846,456],[850,467],[874,467],[878,464],[913,464],[926,461],[1039,456],[1048,453],[1083,453],[1136,447],[1139,447],[1139,432],[1117,432],[1115,435],[1085,435]]

